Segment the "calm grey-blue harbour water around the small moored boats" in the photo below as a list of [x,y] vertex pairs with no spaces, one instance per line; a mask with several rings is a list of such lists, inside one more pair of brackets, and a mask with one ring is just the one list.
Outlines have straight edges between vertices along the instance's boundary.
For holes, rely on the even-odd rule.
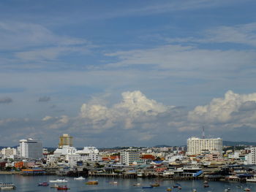
[[[14,183],[17,187],[15,191],[26,191],[26,192],[32,192],[32,191],[57,191],[56,188],[50,188],[50,185],[53,185],[53,183],[50,183],[47,187],[37,186],[38,183],[42,183],[44,181],[48,182],[49,180],[56,180],[59,179],[57,176],[37,176],[37,177],[29,177],[29,176],[21,176],[21,175],[0,175],[0,183]],[[118,182],[117,185],[110,184],[108,182],[113,181],[112,178],[86,178],[86,180],[79,181],[74,180],[72,177],[66,177],[67,186],[70,188],[69,192],[75,192],[75,191],[91,191],[91,192],[97,192],[97,191],[106,191],[106,192],[121,192],[121,191],[139,191],[139,192],[157,192],[157,191],[166,191],[168,187],[171,187],[174,185],[173,181],[170,180],[149,180],[149,179],[134,179],[134,180],[128,180],[128,179],[115,179],[115,181]],[[98,180],[99,185],[85,185],[85,182],[87,180]],[[141,186],[149,186],[151,183],[158,182],[160,184],[160,187],[157,188],[149,188],[149,189],[142,189]],[[141,183],[140,187],[133,186],[134,183]],[[179,191],[179,192],[189,192],[192,191],[193,188],[196,188],[198,192],[222,192],[225,190],[225,188],[230,188],[230,192],[238,192],[238,191],[244,191],[245,187],[249,187],[252,189],[252,191],[256,191],[256,183],[227,183],[227,182],[209,182],[210,185],[209,188],[203,188],[203,181],[202,180],[193,180],[193,181],[184,181],[179,182],[182,186],[181,190],[178,190],[177,188],[173,188],[172,191]],[[59,183],[61,185],[61,183]],[[238,185],[243,185],[243,188],[237,188]]]

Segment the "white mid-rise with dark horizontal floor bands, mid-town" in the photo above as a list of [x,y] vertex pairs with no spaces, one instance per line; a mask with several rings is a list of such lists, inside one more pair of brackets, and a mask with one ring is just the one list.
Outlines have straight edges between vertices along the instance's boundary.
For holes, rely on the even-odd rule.
[[122,150],[120,154],[121,164],[140,164],[142,161],[140,159],[140,153],[137,148],[129,148],[127,150]]

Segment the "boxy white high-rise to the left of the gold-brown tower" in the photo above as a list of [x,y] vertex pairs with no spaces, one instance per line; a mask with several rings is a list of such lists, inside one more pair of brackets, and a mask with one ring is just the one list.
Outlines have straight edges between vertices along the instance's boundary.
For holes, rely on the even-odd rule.
[[42,141],[31,138],[21,139],[19,150],[23,158],[40,159],[42,158]]

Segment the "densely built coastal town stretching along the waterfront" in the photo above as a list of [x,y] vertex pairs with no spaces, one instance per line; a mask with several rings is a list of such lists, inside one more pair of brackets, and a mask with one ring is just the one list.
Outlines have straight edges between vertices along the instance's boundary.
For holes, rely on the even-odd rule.
[[72,140],[63,134],[56,149],[46,149],[41,140],[20,139],[18,147],[1,149],[1,174],[256,182],[256,147],[223,146],[221,138],[190,137],[187,146],[110,149],[76,148]]

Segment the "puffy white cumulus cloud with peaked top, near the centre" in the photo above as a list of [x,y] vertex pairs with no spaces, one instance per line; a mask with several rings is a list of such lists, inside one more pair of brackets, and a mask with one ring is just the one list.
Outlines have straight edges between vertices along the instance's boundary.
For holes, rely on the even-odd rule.
[[83,104],[80,108],[80,117],[91,120],[94,128],[110,128],[117,124],[123,128],[132,128],[134,122],[147,121],[172,108],[146,98],[140,91],[124,92],[122,98],[120,103],[112,107]]

